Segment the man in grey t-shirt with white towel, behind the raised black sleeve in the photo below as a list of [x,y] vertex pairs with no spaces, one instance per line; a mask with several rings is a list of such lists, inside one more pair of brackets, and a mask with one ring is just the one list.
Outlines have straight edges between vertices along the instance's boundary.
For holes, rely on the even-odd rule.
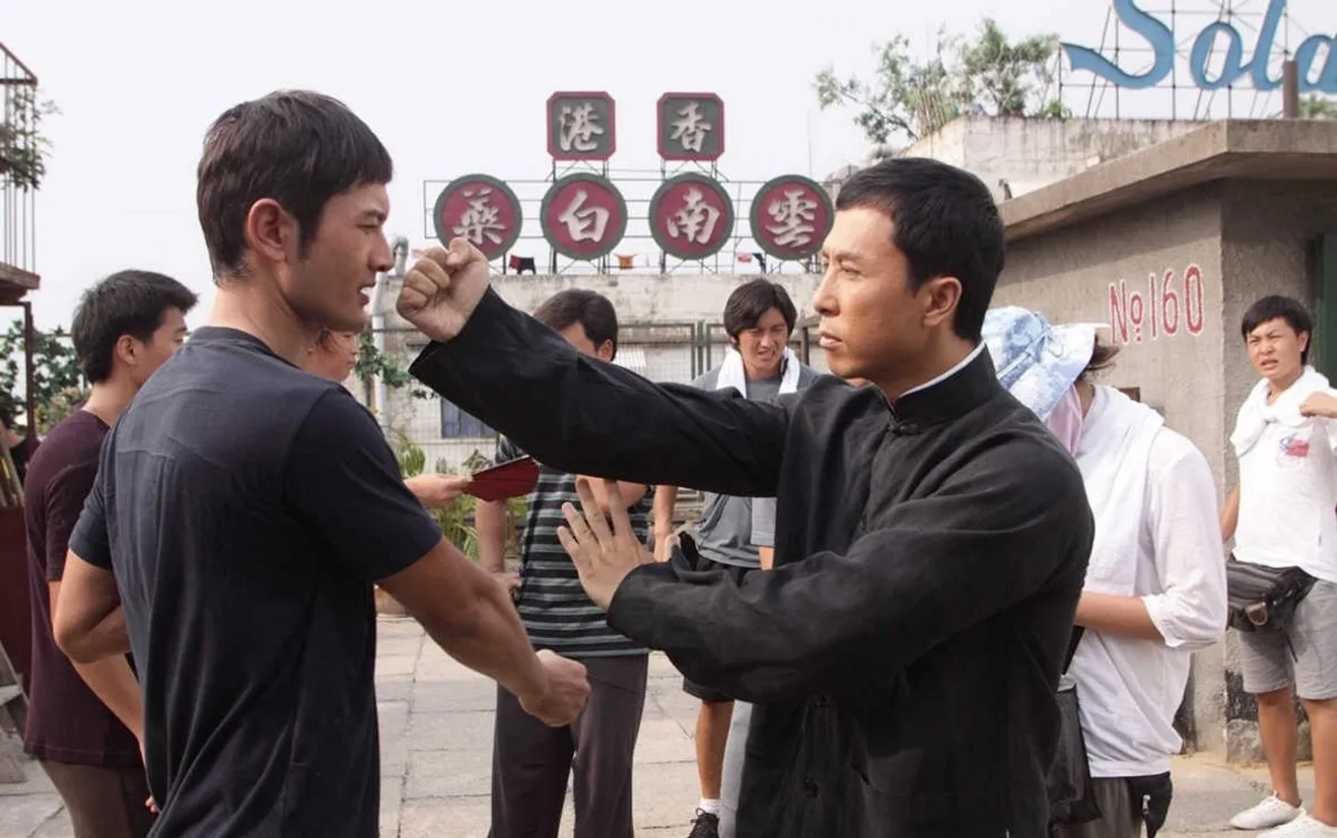
[[[699,376],[691,382],[693,386],[703,390],[734,389],[746,398],[771,401],[781,394],[808,389],[817,378],[817,372],[801,364],[794,350],[789,349],[789,335],[794,331],[798,311],[778,282],[758,278],[739,285],[725,302],[721,319],[729,335],[725,361]],[[677,486],[659,486],[655,491],[655,556],[660,560],[667,556],[666,544],[673,532],[677,500]],[[774,547],[774,499],[707,493],[701,523],[697,525],[702,559],[699,569],[721,569],[741,583],[747,573],[769,568]],[[770,521],[765,525],[767,533],[757,531],[755,524],[761,521]],[[737,806],[738,778],[726,783],[723,777],[734,699],[686,678],[682,688],[687,695],[701,699],[701,714],[697,716],[701,805],[689,838],[717,838],[721,814],[725,814],[726,833],[733,821],[733,813],[723,811],[722,805],[726,785],[733,793],[730,809]],[[734,730],[746,731],[750,715],[750,708],[739,708]],[[734,742],[734,747],[741,744]],[[734,762],[738,769],[742,767],[739,760]]]

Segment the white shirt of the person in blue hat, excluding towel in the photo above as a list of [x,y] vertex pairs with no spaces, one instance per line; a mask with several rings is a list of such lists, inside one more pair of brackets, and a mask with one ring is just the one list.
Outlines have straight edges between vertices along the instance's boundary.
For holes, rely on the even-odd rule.
[[1092,777],[1170,770],[1182,739],[1174,715],[1183,702],[1191,652],[1226,628],[1226,568],[1217,488],[1206,458],[1162,428],[1151,442],[1138,527],[1135,596],[1163,640],[1087,631],[1068,672],[1078,683],[1082,731]]

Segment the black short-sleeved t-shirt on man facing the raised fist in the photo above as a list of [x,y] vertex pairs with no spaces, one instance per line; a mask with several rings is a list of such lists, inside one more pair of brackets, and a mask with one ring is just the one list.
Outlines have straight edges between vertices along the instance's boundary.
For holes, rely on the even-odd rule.
[[158,834],[377,834],[370,583],[440,537],[340,385],[222,327],[154,373],[70,547],[116,576]]

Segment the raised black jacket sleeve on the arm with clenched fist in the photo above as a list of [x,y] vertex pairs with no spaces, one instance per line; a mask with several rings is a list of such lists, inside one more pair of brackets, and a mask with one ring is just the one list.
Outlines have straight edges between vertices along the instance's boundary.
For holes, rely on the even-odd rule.
[[431,343],[409,372],[563,472],[723,495],[775,493],[785,408],[651,384],[580,354],[493,290],[459,337]]

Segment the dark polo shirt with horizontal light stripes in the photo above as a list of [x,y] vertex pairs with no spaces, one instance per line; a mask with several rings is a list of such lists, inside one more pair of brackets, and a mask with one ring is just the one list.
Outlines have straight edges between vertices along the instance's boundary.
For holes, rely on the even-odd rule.
[[[523,456],[524,452],[505,437],[497,440],[496,462]],[[580,508],[575,474],[539,464],[539,482],[529,493],[520,539],[520,591],[516,596],[529,643],[567,658],[647,654],[638,643],[608,628],[603,611],[580,587],[576,565],[558,540],[558,527],[566,524],[562,504],[568,501]],[[648,544],[652,509],[652,489],[628,509],[631,527],[642,544]]]

